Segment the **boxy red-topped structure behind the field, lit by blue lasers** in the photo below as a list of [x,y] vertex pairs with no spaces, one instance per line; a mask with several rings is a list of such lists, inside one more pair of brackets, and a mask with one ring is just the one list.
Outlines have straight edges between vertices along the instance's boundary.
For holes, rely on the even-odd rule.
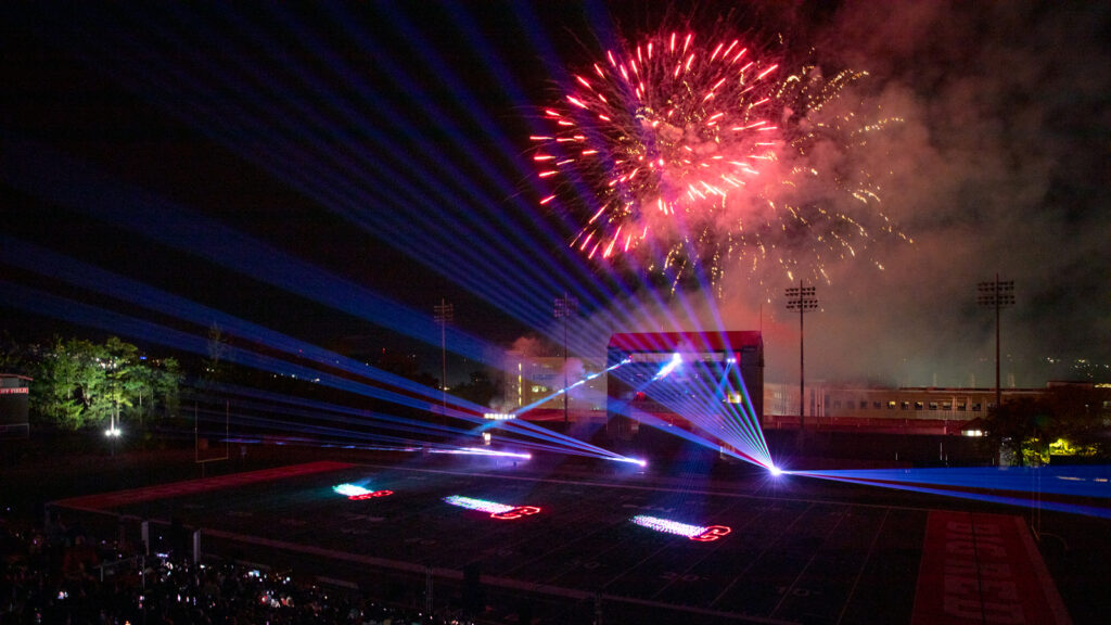
[[[713,436],[725,404],[763,415],[759,331],[615,334],[607,346],[607,427],[629,440],[642,423]],[[720,418],[720,417],[718,417]],[[701,430],[701,431],[700,431]]]

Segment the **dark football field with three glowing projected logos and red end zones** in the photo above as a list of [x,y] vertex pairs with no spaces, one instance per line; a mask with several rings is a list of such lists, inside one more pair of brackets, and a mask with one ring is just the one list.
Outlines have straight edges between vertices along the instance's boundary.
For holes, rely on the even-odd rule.
[[156,549],[177,522],[206,555],[387,601],[480,594],[489,622],[1068,622],[1018,517],[808,497],[762,476],[327,462],[54,505],[150,519]]

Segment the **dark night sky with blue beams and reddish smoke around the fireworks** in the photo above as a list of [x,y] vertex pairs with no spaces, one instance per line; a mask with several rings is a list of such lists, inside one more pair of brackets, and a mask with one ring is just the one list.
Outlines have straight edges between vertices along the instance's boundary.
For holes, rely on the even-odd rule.
[[913,242],[875,236],[867,258],[827,262],[808,380],[993,385],[977,284],[997,274],[1015,297],[1004,386],[1111,380],[1108,4],[734,7],[6,4],[2,329],[157,353],[180,345],[111,315],[203,336],[218,311],[322,347],[434,353],[444,298],[449,348],[477,361],[561,339],[568,292],[573,353],[720,318],[763,329],[768,380],[792,381],[782,271],[672,295],[588,261],[568,247],[580,217],[538,206],[543,107],[605,50],[674,27],[865,70],[842,99],[902,120],[839,162],[877,176]]

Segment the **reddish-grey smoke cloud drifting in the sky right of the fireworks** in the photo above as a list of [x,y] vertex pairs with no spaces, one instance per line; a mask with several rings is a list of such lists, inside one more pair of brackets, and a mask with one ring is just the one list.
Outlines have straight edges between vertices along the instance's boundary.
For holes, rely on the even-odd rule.
[[[827,261],[804,320],[808,379],[992,386],[994,310],[977,306],[977,284],[997,272],[1015,297],[1004,385],[1069,377],[1050,357],[1111,361],[1107,23],[1104,6],[848,2],[822,27],[821,62],[870,73],[838,106],[902,121],[863,149],[811,156],[869,172],[913,244],[872,228],[867,250]],[[793,380],[792,285],[764,281],[730,282],[720,309],[727,327],[755,329],[764,301],[767,379]]]

